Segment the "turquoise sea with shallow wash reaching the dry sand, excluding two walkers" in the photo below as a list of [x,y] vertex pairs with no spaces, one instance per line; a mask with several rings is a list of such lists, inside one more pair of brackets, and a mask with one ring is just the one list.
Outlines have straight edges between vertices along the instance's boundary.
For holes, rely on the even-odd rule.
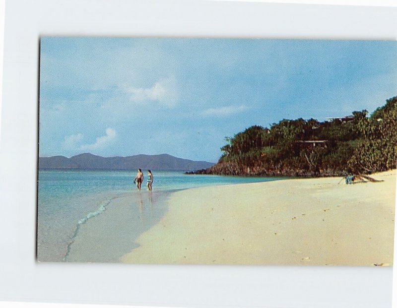
[[40,170],[38,260],[117,262],[136,247],[134,240],[142,232],[164,216],[171,192],[281,179],[152,172],[153,190],[149,192],[147,173],[138,191],[132,183],[136,171]]

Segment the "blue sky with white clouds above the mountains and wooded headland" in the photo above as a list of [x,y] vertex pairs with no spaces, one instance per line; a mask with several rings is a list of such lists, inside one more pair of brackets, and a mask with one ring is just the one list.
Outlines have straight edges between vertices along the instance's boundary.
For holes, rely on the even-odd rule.
[[67,38],[40,43],[40,156],[216,162],[225,136],[372,112],[397,95],[394,41]]

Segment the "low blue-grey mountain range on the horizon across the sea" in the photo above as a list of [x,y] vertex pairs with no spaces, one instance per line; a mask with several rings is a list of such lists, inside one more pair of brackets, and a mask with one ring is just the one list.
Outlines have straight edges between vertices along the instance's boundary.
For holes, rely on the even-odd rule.
[[128,157],[102,157],[91,153],[65,156],[40,157],[41,169],[154,169],[154,170],[198,170],[214,165],[203,161],[182,159],[168,154],[134,155]]

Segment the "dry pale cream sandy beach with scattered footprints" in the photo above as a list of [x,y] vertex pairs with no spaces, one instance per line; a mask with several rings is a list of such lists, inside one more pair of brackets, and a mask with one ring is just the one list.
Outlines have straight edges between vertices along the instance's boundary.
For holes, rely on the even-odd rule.
[[396,170],[372,177],[384,182],[291,179],[178,191],[121,260],[392,265]]

